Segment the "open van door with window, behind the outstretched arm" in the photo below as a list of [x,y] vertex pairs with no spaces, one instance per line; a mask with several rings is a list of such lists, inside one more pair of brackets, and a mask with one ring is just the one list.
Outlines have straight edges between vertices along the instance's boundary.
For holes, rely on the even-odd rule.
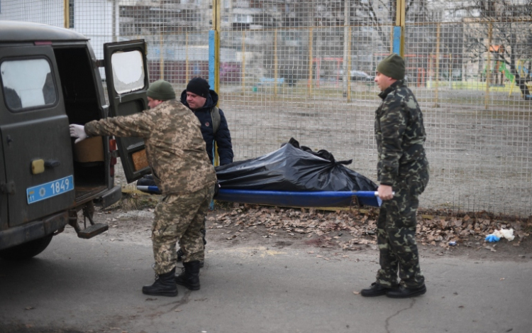
[[[148,109],[148,64],[144,40],[104,44],[105,76],[111,116]],[[128,182],[151,172],[142,138],[116,138]]]

